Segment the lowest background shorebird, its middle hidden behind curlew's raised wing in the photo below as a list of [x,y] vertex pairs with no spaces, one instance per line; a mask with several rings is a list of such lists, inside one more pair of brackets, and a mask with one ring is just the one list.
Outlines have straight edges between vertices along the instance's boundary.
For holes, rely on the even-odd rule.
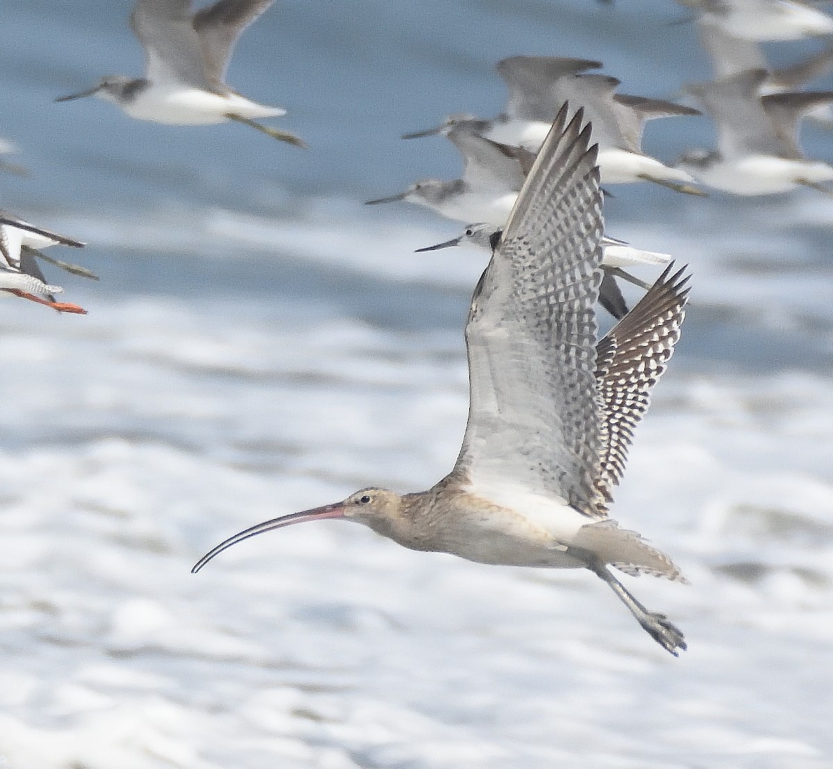
[[[424,251],[436,251],[437,249],[449,249],[458,245],[473,245],[479,249],[488,249],[491,254],[500,241],[501,234],[502,230],[495,229],[493,224],[476,222],[476,224],[466,225],[466,229],[456,238],[426,246],[423,249],[416,249],[416,254],[421,254]],[[604,277],[601,279],[601,285],[599,286],[599,304],[614,318],[621,319],[628,309],[625,297],[622,296],[614,278],[626,280],[641,289],[650,289],[650,284],[646,284],[644,280],[626,272],[625,268],[646,264],[669,264],[671,256],[669,254],[658,254],[656,251],[634,249],[631,245],[626,244],[624,240],[608,238],[606,235],[602,236],[601,247],[604,254],[601,261]]]

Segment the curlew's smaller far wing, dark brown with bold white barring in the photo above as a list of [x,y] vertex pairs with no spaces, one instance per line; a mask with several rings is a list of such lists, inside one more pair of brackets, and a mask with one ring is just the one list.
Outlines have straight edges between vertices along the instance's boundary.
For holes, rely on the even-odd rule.
[[625,470],[636,425],[651,403],[651,389],[665,373],[680,339],[690,275],[671,274],[674,263],[631,312],[596,346],[596,377],[603,401],[599,425],[601,472],[596,487],[606,501]]

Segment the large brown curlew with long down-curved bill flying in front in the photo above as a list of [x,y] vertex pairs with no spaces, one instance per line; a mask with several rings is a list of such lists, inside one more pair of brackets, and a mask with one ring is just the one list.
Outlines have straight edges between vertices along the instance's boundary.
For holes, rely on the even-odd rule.
[[471,405],[449,475],[427,491],[370,487],[268,520],[204,555],[307,520],[356,520],[412,550],[493,565],[586,568],[676,656],[683,634],[608,569],[682,581],[636,532],[608,518],[636,422],[679,337],[686,289],[666,274],[596,344],[602,197],[591,129],[562,109],[471,300]]

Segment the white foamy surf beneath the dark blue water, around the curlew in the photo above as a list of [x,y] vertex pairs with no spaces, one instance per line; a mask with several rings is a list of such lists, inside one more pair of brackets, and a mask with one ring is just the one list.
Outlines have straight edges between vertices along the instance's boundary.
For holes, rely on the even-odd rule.
[[458,332],[218,303],[2,309],[8,766],[825,765],[826,377],[681,353],[657,390],[613,515],[692,581],[629,580],[686,631],[673,660],[589,573],[356,525],[190,575],[259,520],[425,488],[466,420]]

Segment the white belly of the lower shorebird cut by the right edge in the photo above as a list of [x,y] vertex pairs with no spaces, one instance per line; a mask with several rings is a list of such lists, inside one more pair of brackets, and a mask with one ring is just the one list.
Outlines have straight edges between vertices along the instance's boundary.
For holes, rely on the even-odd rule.
[[813,183],[829,181],[833,179],[833,166],[772,155],[749,155],[715,163],[697,175],[710,187],[736,195],[771,195],[795,188],[799,179]]

